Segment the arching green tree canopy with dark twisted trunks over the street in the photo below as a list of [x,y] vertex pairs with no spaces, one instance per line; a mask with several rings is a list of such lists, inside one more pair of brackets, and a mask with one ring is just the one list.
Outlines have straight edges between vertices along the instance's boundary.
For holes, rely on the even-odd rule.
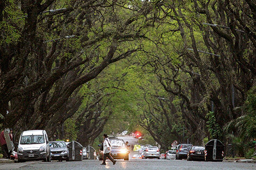
[[252,0],[1,1],[2,127],[250,141],[255,23]]

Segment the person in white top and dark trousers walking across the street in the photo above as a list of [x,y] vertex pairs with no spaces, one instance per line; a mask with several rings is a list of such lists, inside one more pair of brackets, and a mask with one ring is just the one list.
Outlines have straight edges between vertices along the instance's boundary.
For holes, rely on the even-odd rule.
[[116,160],[113,159],[113,157],[110,155],[111,153],[111,142],[109,141],[109,138],[107,136],[107,134],[103,135],[103,162],[101,163],[101,165],[106,165],[106,159],[108,158],[109,160],[111,160],[113,162],[113,165],[115,165],[115,162],[117,162]]

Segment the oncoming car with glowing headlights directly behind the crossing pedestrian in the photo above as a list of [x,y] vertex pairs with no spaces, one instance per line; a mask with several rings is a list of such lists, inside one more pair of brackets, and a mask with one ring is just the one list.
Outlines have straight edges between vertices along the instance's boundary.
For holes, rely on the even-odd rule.
[[[126,144],[120,138],[109,138],[111,142],[111,156],[114,159],[124,159],[129,160],[129,150],[127,149]],[[103,160],[103,154],[100,154],[99,160]]]

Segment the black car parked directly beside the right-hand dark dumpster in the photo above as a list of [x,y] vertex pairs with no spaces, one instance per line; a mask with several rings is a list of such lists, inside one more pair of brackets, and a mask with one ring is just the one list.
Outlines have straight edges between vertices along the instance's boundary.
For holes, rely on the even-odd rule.
[[187,154],[187,160],[203,160],[204,161],[204,150],[202,146],[193,146]]

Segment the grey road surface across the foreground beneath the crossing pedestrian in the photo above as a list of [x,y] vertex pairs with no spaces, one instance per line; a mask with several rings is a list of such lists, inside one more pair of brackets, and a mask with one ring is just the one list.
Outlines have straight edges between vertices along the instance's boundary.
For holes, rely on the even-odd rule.
[[203,170],[219,170],[219,169],[230,169],[230,170],[243,170],[243,169],[256,169],[255,163],[235,163],[235,162],[198,162],[198,161],[186,161],[186,160],[129,160],[123,161],[118,160],[115,165],[112,162],[107,161],[107,165],[100,165],[101,161],[98,160],[83,160],[76,162],[26,162],[26,163],[7,163],[1,164],[0,169],[51,169],[51,170],[70,170],[70,169],[203,169]]

